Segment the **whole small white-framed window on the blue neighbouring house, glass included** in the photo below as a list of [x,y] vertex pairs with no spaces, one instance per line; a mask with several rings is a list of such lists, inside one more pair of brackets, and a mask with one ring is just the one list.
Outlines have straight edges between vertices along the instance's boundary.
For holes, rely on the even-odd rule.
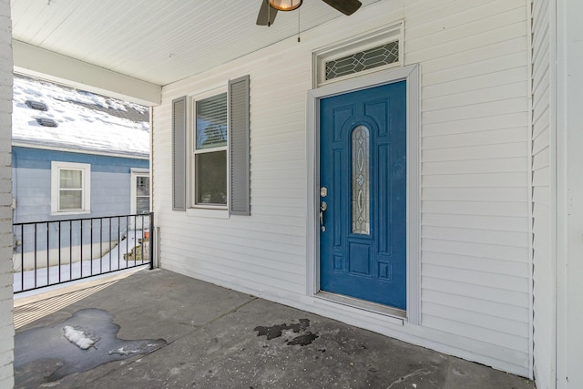
[[52,213],[87,213],[90,211],[91,165],[51,162]]

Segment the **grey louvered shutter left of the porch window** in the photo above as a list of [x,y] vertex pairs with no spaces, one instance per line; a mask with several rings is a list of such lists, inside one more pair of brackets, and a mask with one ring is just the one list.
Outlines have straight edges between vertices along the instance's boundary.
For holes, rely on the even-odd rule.
[[172,210],[186,210],[186,96],[172,100]]

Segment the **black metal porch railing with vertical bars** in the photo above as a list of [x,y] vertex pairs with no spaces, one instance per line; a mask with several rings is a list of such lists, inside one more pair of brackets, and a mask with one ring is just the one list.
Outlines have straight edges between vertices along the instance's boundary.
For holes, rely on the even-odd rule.
[[149,265],[154,214],[14,223],[14,292]]

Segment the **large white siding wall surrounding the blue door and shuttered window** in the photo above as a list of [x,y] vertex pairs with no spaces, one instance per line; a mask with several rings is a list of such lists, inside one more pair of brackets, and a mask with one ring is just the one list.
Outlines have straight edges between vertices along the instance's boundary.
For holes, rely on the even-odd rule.
[[[381,1],[302,33],[300,44],[290,38],[164,87],[153,115],[161,266],[530,376],[528,14],[524,0]],[[421,325],[306,292],[312,52],[403,19],[404,63],[420,64],[422,80]],[[172,211],[171,100],[246,74],[251,217]]]

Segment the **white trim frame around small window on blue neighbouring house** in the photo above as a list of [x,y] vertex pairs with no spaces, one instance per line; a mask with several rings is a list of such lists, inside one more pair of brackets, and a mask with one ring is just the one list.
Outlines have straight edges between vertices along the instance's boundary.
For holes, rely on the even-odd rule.
[[[60,169],[81,170],[83,172],[82,210],[59,210]],[[88,163],[51,161],[51,215],[82,215],[91,212],[91,165]]]

